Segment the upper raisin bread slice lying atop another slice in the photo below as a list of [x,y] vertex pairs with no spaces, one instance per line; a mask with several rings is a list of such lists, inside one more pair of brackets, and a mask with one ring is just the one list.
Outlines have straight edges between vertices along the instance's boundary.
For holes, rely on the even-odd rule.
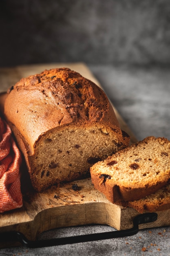
[[108,200],[134,201],[170,182],[170,141],[147,137],[90,168],[94,187]]

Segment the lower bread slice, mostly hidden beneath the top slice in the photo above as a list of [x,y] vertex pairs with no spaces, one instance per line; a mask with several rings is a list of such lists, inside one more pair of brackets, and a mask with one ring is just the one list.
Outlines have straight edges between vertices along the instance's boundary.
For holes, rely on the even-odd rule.
[[135,201],[119,201],[118,205],[123,207],[131,207],[139,213],[165,211],[170,209],[170,185],[159,189],[145,198]]

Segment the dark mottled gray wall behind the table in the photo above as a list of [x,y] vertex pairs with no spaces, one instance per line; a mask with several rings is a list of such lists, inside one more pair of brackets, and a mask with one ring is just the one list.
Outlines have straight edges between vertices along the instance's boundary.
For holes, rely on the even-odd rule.
[[1,0],[0,66],[170,64],[169,0]]

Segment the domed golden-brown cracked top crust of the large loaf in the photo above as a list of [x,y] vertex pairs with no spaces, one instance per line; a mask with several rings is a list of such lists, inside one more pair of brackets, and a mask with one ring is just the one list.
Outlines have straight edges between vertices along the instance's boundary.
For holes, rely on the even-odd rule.
[[8,90],[4,114],[26,140],[30,154],[44,132],[68,124],[107,123],[120,143],[125,140],[103,90],[68,68],[21,79]]

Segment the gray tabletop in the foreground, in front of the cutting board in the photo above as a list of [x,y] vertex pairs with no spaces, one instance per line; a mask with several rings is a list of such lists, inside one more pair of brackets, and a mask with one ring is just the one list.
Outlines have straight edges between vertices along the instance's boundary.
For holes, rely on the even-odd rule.
[[[92,234],[94,232],[113,231],[106,226],[87,226],[86,228],[69,228],[52,231],[50,237],[77,236]],[[69,233],[69,235],[68,235]],[[49,232],[43,238],[49,238]],[[146,251],[142,251],[146,248]],[[115,238],[103,241],[79,243],[75,245],[60,245],[57,247],[45,247],[40,249],[9,248],[0,250],[0,256],[24,255],[24,256],[169,256],[170,255],[170,229],[157,228],[139,231],[135,236]]]

